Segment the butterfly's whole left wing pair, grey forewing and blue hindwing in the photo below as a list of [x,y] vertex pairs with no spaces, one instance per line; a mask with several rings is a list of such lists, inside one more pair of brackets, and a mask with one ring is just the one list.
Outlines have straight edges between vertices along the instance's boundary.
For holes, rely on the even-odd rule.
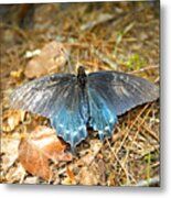
[[57,135],[74,146],[87,136],[79,95],[74,75],[50,75],[18,88],[11,106],[50,118]]

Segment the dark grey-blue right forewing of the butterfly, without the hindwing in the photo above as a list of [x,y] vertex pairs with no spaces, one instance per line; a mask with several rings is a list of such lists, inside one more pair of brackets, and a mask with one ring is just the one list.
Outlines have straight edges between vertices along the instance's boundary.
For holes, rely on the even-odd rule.
[[156,85],[125,73],[92,73],[88,75],[88,85],[117,116],[159,98],[159,88]]

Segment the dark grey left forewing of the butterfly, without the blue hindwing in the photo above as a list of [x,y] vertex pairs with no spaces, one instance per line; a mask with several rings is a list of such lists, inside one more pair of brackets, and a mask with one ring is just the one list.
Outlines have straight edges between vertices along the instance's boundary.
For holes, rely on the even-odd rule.
[[11,95],[11,107],[51,118],[74,80],[74,75],[50,75],[30,81]]

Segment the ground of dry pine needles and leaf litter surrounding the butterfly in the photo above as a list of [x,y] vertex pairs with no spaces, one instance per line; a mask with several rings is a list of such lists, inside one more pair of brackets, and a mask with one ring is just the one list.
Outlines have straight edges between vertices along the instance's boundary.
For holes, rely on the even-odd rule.
[[49,119],[9,105],[17,87],[53,73],[75,73],[78,65],[133,74],[159,86],[159,3],[11,4],[0,6],[0,15],[1,183],[160,186],[159,100],[119,117],[104,142],[89,131],[76,154],[63,142],[62,160],[41,161],[51,177],[26,169],[20,157],[25,135],[38,125],[51,128]]

